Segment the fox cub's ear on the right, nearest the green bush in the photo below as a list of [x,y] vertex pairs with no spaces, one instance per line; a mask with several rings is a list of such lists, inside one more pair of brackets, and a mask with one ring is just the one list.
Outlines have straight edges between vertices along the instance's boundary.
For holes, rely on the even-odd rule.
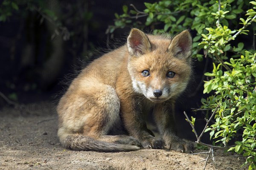
[[191,55],[192,37],[188,30],[177,34],[169,45],[169,51],[179,59],[188,59]]

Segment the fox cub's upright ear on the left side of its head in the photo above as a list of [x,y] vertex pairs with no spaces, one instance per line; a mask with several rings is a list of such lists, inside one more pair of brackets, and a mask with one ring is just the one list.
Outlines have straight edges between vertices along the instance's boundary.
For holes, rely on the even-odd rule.
[[127,38],[127,46],[130,55],[137,57],[148,53],[151,49],[151,44],[146,34],[136,28],[131,29]]

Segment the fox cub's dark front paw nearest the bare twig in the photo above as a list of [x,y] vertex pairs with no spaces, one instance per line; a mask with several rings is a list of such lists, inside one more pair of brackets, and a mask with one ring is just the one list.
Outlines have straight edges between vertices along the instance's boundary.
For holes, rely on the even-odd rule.
[[177,136],[172,137],[168,142],[166,142],[166,148],[169,150],[175,150],[182,153],[193,153],[194,143],[185,142],[178,138]]

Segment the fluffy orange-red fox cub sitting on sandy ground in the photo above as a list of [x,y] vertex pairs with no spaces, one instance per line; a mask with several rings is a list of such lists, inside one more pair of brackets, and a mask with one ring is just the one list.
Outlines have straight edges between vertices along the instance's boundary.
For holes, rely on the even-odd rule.
[[[175,134],[173,116],[175,99],[189,82],[191,48],[187,30],[172,39],[133,28],[127,44],[90,63],[60,99],[61,144],[72,150],[191,153],[193,144]],[[148,130],[150,116],[158,137]]]

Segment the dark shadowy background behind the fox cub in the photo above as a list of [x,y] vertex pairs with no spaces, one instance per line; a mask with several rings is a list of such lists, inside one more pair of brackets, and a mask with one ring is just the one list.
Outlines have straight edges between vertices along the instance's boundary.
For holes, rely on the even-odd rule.
[[[131,28],[118,28],[113,34],[105,32],[109,25],[114,25],[114,13],[122,14],[123,5],[130,8],[132,3],[138,10],[143,10],[145,1],[18,2],[23,2],[18,3],[19,10],[12,10],[12,15],[5,22],[0,22],[0,92],[16,103],[29,104],[41,101],[57,103],[81,68],[104,51],[125,44]],[[29,7],[36,7],[36,10],[29,10],[27,2],[31,2]],[[40,11],[44,8],[54,11],[58,19],[52,23],[45,18],[43,20]],[[163,28],[161,25],[158,27]],[[55,35],[56,29],[58,35]],[[150,28],[145,30],[150,31]],[[192,36],[195,36],[193,32]],[[197,117],[198,132],[205,125],[204,114],[200,112],[195,115],[191,111],[191,108],[199,108],[201,105],[203,83],[200,82],[205,64],[205,59],[203,62],[194,61],[192,81],[177,101],[176,119],[183,138],[195,140],[183,111],[189,117]],[[211,70],[211,66],[208,70]],[[6,105],[9,104],[0,97],[0,107]],[[205,139],[209,139],[207,134]]]

